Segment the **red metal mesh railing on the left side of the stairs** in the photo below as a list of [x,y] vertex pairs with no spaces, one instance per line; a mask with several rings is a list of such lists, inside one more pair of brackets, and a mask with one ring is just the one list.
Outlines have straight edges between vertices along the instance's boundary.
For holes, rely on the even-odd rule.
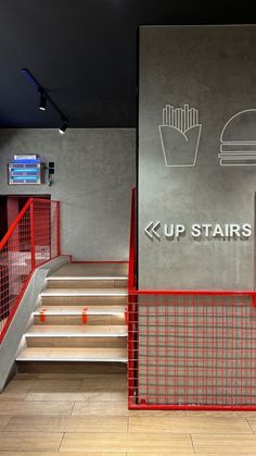
[[0,242],[0,342],[35,268],[60,255],[60,204],[30,198]]

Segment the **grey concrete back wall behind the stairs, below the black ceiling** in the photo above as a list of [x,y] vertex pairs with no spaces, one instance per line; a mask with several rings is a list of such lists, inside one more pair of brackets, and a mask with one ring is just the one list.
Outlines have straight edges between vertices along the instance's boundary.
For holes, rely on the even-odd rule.
[[[14,153],[54,161],[53,185],[9,186]],[[51,194],[62,201],[62,250],[77,260],[128,258],[135,163],[135,130],[0,130],[0,194]]]

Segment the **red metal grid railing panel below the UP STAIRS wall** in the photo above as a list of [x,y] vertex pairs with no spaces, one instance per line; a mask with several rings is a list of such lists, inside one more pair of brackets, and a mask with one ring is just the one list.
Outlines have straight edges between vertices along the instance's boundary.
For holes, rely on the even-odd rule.
[[129,292],[129,407],[256,409],[254,292]]

